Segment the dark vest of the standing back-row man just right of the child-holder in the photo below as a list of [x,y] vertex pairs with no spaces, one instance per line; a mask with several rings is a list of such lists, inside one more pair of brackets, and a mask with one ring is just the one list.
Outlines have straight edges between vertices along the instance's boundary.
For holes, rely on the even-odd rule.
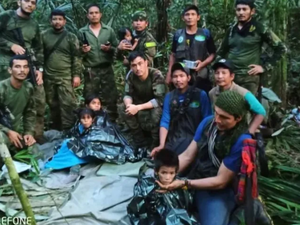
[[194,40],[189,45],[186,44],[186,31],[185,29],[177,30],[175,33],[177,38],[177,48],[175,53],[175,58],[177,62],[182,62],[183,60],[201,60],[204,61],[208,56],[208,51],[206,47],[206,35],[204,30],[198,28],[195,34]]

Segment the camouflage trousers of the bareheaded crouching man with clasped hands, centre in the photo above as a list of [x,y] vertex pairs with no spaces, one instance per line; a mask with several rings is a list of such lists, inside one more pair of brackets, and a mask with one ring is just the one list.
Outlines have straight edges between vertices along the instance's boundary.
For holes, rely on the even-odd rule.
[[136,115],[130,116],[125,113],[125,105],[122,104],[120,112],[120,117],[129,127],[136,147],[145,147],[147,145],[145,143],[149,138],[151,149],[159,145],[159,123],[162,115],[160,107],[142,110]]

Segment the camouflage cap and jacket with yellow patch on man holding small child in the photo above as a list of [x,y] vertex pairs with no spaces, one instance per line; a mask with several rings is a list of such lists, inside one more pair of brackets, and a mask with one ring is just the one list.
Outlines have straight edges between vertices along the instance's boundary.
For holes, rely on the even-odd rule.
[[[144,11],[137,11],[132,15],[132,20],[146,20],[147,14]],[[137,38],[138,44],[135,51],[144,52],[145,56],[148,59],[149,66],[153,66],[153,59],[156,55],[157,42],[155,38],[147,30],[141,32],[133,31],[133,38]]]

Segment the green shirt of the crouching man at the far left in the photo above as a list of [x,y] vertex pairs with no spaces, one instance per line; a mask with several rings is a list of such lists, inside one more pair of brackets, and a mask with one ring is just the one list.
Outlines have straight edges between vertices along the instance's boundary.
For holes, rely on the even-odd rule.
[[[13,130],[21,134],[34,134],[35,102],[33,100],[33,86],[24,81],[20,89],[10,84],[10,78],[0,82],[0,105],[7,106],[14,120]],[[7,133],[9,129],[0,124],[0,131]]]

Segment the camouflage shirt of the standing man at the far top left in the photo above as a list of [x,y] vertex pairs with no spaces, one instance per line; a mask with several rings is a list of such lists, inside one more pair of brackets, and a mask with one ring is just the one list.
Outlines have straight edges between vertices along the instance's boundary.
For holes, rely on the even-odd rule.
[[44,55],[38,23],[31,18],[18,16],[13,10],[0,13],[0,65],[7,66],[10,58],[14,55],[11,46],[13,44],[20,45],[16,28],[21,28],[25,47],[29,51],[35,52],[35,65],[42,67]]

